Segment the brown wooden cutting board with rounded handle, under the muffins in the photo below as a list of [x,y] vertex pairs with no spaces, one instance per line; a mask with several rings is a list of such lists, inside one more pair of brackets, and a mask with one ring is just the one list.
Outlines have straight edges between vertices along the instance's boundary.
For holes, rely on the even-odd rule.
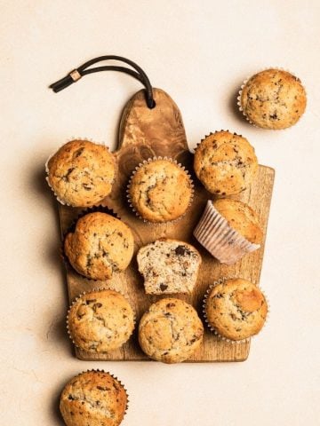
[[[101,203],[114,209],[122,220],[131,227],[135,239],[135,253],[141,246],[161,237],[188,241],[193,244],[203,258],[200,267],[196,288],[191,296],[172,295],[193,304],[200,318],[203,319],[202,301],[208,286],[214,280],[222,277],[240,277],[251,280],[259,285],[260,272],[264,252],[265,238],[261,248],[244,256],[232,266],[220,264],[215,260],[193,237],[193,230],[202,215],[208,199],[214,199],[204,186],[197,181],[193,173],[193,154],[188,150],[185,130],[178,106],[172,99],[159,89],[154,89],[156,107],[148,109],[144,91],[139,91],[124,107],[119,130],[118,149],[114,153],[118,166],[116,182],[112,193]],[[213,131],[213,130],[212,130]],[[167,156],[175,159],[186,167],[195,182],[195,199],[187,214],[180,220],[163,225],[146,224],[136,217],[126,199],[126,186],[132,170],[143,160],[154,156]],[[259,166],[257,177],[252,187],[233,198],[245,201],[257,212],[260,225],[267,233],[268,212],[274,183],[275,170],[266,166]],[[68,230],[72,221],[81,213],[81,209],[74,209],[59,205],[61,234]],[[135,256],[132,263],[124,272],[118,272],[112,280],[86,280],[77,274],[68,264],[67,283],[70,303],[84,291],[92,288],[115,288],[128,297],[137,313],[137,321],[148,306],[164,296],[147,296],[143,288],[143,279],[137,269]],[[268,286],[264,286],[264,288]],[[137,325],[138,325],[137,322]],[[187,362],[207,361],[241,361],[249,355],[250,342],[227,343],[220,341],[205,328],[204,343]],[[263,331],[262,331],[263,333]],[[84,360],[148,360],[140,350],[137,337],[137,327],[131,339],[116,351],[107,354],[91,354],[76,348],[76,357]]]

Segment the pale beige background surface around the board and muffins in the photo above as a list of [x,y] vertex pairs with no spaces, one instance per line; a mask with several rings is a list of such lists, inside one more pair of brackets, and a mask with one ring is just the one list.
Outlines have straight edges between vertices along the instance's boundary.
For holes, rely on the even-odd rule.
[[[314,1],[2,0],[1,425],[60,425],[63,384],[86,368],[130,392],[124,425],[320,424],[320,4]],[[73,136],[116,146],[124,102],[140,83],[105,73],[54,94],[49,83],[84,60],[137,61],[180,106],[189,146],[211,130],[244,134],[276,169],[261,286],[268,327],[239,364],[84,363],[64,327],[56,206],[44,162]],[[294,71],[308,110],[292,129],[258,130],[235,113],[242,80]]]

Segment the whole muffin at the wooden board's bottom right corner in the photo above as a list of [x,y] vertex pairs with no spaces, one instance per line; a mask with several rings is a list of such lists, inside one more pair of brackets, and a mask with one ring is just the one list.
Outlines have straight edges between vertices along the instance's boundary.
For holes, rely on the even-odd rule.
[[204,316],[218,335],[244,340],[257,335],[268,314],[265,296],[252,282],[226,280],[213,286],[204,299]]

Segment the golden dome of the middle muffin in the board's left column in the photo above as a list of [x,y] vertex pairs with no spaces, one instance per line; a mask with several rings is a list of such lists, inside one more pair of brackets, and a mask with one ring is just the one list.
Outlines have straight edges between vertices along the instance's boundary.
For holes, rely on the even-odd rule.
[[81,275],[92,280],[110,280],[124,271],[133,255],[134,240],[129,226],[107,213],[80,217],[74,232],[67,234],[64,251]]

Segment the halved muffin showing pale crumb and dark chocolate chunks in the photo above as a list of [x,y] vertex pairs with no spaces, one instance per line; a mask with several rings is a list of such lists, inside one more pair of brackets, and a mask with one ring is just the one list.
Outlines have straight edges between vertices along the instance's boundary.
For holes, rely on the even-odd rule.
[[161,239],[141,247],[137,262],[148,295],[192,293],[201,256],[187,242]]

